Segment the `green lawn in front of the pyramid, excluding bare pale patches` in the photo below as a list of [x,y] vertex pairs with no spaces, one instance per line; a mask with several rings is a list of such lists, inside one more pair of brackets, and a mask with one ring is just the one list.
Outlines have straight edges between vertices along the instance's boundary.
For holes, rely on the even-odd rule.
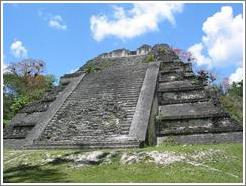
[[[71,162],[44,163],[47,154],[65,156],[81,150],[4,150],[4,182],[18,183],[239,183],[243,178],[243,145],[161,145],[120,152],[159,151],[187,156],[205,151],[219,153],[198,160],[199,165],[178,162],[170,165],[134,163],[122,165],[120,157],[111,164],[74,167]],[[105,150],[110,151],[110,150]]]

